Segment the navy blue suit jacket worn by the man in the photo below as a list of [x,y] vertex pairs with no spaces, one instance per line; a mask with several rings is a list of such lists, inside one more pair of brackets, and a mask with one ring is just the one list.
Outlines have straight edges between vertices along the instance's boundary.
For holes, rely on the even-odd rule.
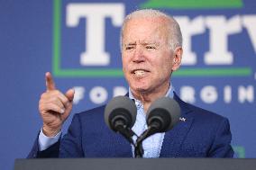
[[[233,157],[229,121],[174,99],[186,121],[165,133],[160,157]],[[133,157],[131,144],[109,130],[104,121],[105,106],[75,114],[68,133],[50,148],[39,152],[35,141],[28,157]]]

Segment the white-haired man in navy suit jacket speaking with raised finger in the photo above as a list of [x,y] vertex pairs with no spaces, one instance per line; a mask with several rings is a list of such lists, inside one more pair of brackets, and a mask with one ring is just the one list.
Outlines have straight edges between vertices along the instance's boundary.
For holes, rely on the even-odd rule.
[[[156,10],[133,12],[123,22],[121,49],[127,95],[137,107],[133,131],[138,136],[147,129],[145,112],[156,99],[169,96],[181,107],[178,125],[143,141],[143,157],[233,157],[227,119],[184,103],[170,84],[182,57],[178,22]],[[61,139],[75,92],[61,94],[50,73],[46,87],[39,103],[43,126],[29,157],[134,157],[131,144],[106,127],[105,106],[76,114]]]

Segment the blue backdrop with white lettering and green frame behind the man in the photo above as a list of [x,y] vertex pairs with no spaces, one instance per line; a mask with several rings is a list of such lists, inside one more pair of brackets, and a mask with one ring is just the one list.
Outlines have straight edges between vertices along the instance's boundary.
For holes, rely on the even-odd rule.
[[256,157],[253,0],[0,0],[0,169],[26,157],[41,128],[45,72],[62,92],[76,89],[65,130],[75,112],[126,92],[119,31],[124,15],[143,7],[180,23],[184,58],[172,78],[176,92],[230,120],[235,157]]

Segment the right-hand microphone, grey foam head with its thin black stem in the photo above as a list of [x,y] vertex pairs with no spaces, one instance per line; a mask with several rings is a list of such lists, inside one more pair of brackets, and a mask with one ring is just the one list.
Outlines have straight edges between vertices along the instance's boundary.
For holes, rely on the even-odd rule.
[[175,100],[162,97],[152,103],[146,118],[148,130],[145,130],[136,140],[136,156],[141,157],[143,155],[142,141],[144,139],[155,133],[171,130],[178,123],[179,117],[180,107]]

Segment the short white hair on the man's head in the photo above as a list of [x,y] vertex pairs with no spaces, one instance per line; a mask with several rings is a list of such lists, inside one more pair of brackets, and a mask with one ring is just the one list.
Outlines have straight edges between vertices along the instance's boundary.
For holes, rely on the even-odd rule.
[[123,46],[123,30],[127,24],[127,22],[133,18],[157,18],[157,17],[164,17],[168,21],[168,41],[169,41],[169,48],[175,50],[178,47],[182,47],[182,34],[178,25],[178,22],[170,15],[166,13],[162,13],[159,10],[153,9],[142,9],[134,11],[133,13],[128,14],[123,21],[123,26],[120,33],[120,48],[122,51]]

